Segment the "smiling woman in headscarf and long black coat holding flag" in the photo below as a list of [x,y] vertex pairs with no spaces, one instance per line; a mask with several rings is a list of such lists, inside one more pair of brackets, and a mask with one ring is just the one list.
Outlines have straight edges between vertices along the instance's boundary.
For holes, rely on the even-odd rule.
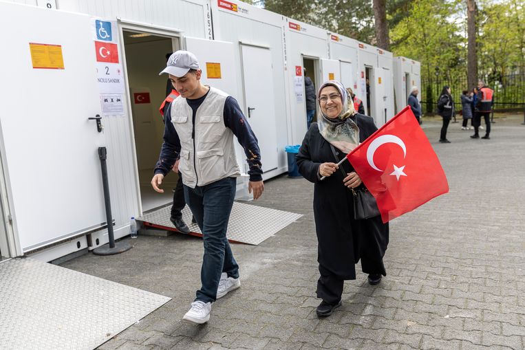
[[[297,154],[299,172],[314,186],[314,219],[318,241],[318,316],[329,316],[341,305],[343,282],[356,279],[355,264],[376,285],[386,276],[383,256],[388,224],[381,217],[354,219],[354,190],[365,190],[352,164],[336,163],[377,130],[374,120],[356,113],[347,91],[336,80],[317,94],[318,122],[312,123]],[[325,179],[321,179],[321,177]]]

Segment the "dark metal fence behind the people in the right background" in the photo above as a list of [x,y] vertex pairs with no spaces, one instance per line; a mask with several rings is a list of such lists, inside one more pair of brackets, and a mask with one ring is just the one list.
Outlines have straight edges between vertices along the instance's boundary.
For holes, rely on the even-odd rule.
[[[484,79],[486,85],[494,90],[494,109],[496,111],[523,110],[525,106],[525,74],[511,74]],[[452,98],[456,110],[461,109],[461,94],[463,90],[471,91],[467,86],[467,72],[451,79],[440,76],[427,77],[421,80],[421,104],[425,113],[436,113],[438,98],[445,85],[451,87]]]

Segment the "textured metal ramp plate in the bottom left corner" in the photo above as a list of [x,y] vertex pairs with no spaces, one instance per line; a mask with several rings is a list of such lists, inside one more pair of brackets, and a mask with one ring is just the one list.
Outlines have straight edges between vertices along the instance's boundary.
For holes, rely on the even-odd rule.
[[171,298],[32,259],[0,263],[1,349],[95,349]]

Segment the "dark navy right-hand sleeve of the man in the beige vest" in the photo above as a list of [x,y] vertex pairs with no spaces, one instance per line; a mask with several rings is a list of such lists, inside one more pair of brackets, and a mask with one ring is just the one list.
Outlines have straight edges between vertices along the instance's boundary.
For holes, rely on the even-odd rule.
[[241,111],[237,100],[232,96],[226,98],[224,103],[224,126],[230,128],[237,137],[239,144],[244,149],[246,161],[250,170],[250,181],[262,181],[261,151],[257,138],[248,124],[248,120]]

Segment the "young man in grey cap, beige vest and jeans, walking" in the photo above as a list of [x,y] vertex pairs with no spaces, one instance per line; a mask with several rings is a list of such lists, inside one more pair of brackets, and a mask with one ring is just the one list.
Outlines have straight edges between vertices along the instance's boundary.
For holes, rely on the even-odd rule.
[[164,175],[180,159],[178,170],[182,173],[186,204],[204,239],[202,287],[183,319],[204,323],[210,318],[211,303],[241,285],[239,266],[226,239],[235,177],[240,175],[233,135],[248,158],[248,190],[253,190],[254,199],[264,190],[261,155],[257,138],[235,98],[200,82],[202,71],[195,55],[175,52],[160,72],[164,73],[180,96],[171,102],[164,116],[164,143],[151,185],[162,193]]

